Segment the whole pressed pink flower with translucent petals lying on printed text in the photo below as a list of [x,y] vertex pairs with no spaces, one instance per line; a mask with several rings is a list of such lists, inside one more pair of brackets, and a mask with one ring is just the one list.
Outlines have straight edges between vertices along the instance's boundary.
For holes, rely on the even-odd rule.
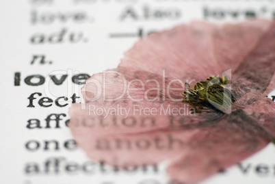
[[[90,77],[70,129],[91,159],[125,169],[169,161],[173,181],[196,183],[273,140],[275,104],[265,94],[274,70],[272,21],[179,25]],[[220,83],[205,90],[211,76]]]

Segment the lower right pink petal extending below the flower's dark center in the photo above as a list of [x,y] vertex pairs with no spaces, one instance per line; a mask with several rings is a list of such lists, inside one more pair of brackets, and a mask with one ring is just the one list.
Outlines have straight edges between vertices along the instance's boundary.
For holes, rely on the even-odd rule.
[[213,127],[189,137],[187,148],[168,168],[172,179],[197,183],[257,153],[275,137],[275,103],[259,92],[248,92]]

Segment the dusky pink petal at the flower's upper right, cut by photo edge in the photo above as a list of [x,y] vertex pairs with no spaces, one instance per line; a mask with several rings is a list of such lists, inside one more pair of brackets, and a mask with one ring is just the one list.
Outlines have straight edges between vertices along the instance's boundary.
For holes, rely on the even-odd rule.
[[[267,34],[238,66],[232,75],[233,95],[239,98],[246,92],[269,92],[274,86],[275,23]],[[273,79],[272,79],[273,77]],[[273,81],[272,81],[273,80]],[[268,87],[269,86],[269,87]],[[268,87],[268,88],[267,88]]]

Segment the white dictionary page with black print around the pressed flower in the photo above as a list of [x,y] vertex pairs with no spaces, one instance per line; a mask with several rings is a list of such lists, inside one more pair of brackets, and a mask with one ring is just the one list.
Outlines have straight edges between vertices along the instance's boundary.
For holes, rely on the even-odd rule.
[[[181,23],[275,18],[272,0],[0,1],[0,183],[168,184],[166,163],[121,169],[89,159],[68,108],[94,73],[116,68],[150,32]],[[269,94],[275,100],[275,92]],[[133,158],[134,159],[134,158]],[[275,183],[275,146],[201,184]]]

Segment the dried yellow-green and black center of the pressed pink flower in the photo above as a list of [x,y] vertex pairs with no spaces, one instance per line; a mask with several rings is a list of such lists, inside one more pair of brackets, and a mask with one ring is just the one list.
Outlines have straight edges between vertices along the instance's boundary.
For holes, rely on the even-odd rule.
[[209,77],[206,81],[197,82],[194,90],[190,89],[189,83],[185,83],[187,90],[183,92],[185,96],[183,102],[198,106],[200,109],[207,107],[225,113],[226,109],[236,101],[231,91],[225,88],[228,82],[227,77]]

